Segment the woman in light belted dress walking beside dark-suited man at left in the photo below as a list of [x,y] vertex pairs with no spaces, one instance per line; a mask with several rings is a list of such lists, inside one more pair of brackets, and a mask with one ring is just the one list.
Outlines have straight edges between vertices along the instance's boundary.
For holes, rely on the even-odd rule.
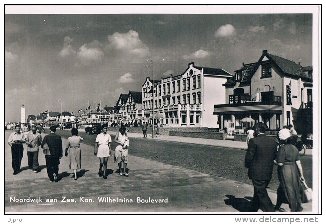
[[65,151],[65,156],[68,156],[69,149],[69,169],[73,170],[73,178],[77,180],[77,170],[82,168],[81,164],[81,141],[84,139],[81,136],[78,136],[77,128],[71,129],[72,136],[67,139],[67,146]]

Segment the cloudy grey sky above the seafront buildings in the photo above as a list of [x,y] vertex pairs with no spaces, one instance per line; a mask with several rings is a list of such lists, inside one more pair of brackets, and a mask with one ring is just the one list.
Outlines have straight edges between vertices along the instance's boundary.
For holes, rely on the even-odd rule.
[[180,75],[191,62],[234,74],[263,50],[313,64],[311,13],[194,14],[195,6],[179,6],[157,14],[136,8],[98,14],[83,7],[82,13],[5,14],[5,121],[19,122],[22,104],[26,118],[61,106],[76,113],[88,102],[113,106],[120,93],[141,91],[152,77],[148,59],[154,79]]

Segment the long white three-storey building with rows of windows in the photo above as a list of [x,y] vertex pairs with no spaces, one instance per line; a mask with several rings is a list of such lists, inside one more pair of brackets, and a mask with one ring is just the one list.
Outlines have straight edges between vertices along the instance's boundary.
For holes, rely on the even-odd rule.
[[154,106],[154,119],[159,124],[218,128],[214,104],[225,103],[223,84],[230,77],[223,69],[199,67],[192,62],[181,75],[154,80],[154,102],[152,80],[147,77],[142,86],[142,113],[151,123]]

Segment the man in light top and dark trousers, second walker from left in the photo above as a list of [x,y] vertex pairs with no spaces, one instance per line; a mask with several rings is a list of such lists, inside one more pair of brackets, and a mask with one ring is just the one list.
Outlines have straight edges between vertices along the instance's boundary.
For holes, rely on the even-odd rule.
[[34,173],[39,168],[39,147],[42,143],[41,133],[37,133],[37,127],[32,126],[32,132],[28,133],[26,138],[28,167]]

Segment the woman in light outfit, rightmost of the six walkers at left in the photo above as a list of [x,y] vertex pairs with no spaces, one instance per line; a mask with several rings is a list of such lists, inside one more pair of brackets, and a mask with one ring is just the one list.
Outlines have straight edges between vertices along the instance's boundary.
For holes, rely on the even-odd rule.
[[[119,132],[117,132],[114,142],[119,145],[116,147],[114,151],[114,162],[118,163],[119,175],[129,176],[127,172],[127,163],[128,163],[128,147],[130,145],[130,140],[126,133],[127,128],[120,128]],[[121,163],[123,162],[123,173],[121,169]]]

